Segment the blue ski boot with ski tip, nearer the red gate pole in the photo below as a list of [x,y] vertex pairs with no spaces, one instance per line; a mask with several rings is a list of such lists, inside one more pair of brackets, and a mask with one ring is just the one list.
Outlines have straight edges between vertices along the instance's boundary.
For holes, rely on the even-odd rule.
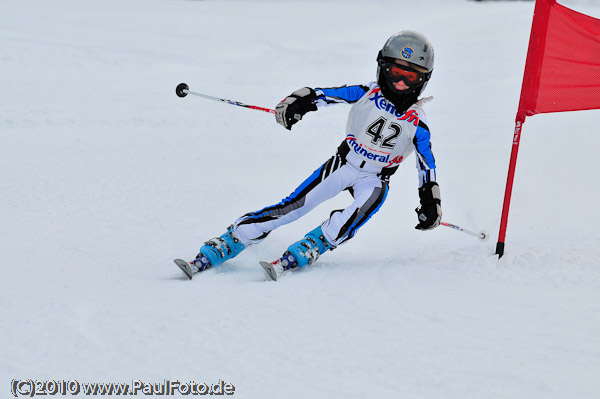
[[260,262],[269,277],[275,281],[297,267],[312,265],[319,256],[327,250],[333,250],[334,246],[327,241],[321,230],[321,226],[309,232],[300,241],[289,246],[283,257],[275,262]]

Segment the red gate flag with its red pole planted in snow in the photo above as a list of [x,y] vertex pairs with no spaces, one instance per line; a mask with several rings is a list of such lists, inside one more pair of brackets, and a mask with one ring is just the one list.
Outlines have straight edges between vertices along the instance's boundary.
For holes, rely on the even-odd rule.
[[526,116],[600,108],[600,20],[536,0],[496,254],[504,254],[521,128]]

